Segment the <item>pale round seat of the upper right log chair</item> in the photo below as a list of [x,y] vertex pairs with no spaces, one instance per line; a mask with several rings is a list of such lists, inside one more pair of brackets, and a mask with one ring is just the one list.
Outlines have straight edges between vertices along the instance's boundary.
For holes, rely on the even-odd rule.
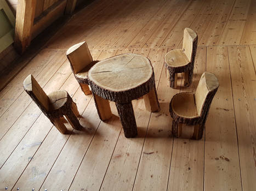
[[164,56],[164,61],[171,67],[180,67],[189,64],[189,59],[187,59],[182,49],[167,52],[166,56]]

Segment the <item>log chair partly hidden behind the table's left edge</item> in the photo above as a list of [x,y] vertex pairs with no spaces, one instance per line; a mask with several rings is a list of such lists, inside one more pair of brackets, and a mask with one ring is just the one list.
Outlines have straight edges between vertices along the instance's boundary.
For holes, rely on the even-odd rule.
[[93,61],[86,41],[75,44],[66,52],[71,69],[84,94],[92,94],[88,86],[88,70],[98,61]]

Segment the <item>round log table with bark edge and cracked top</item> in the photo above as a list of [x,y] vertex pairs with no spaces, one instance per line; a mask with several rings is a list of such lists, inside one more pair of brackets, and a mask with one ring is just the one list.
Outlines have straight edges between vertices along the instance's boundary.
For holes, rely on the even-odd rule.
[[144,56],[125,53],[100,61],[88,71],[88,82],[101,120],[112,116],[109,100],[116,103],[126,138],[138,134],[133,99],[144,96],[147,110],[160,110],[153,67]]

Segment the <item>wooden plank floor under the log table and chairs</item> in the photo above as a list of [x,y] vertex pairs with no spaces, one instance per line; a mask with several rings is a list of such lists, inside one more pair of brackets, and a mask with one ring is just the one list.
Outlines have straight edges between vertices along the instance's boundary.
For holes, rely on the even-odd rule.
[[[193,83],[168,87],[164,54],[198,33]],[[94,59],[134,52],[151,59],[161,111],[134,100],[138,137],[126,139],[115,104],[100,121],[65,52],[87,40]],[[0,190],[256,190],[256,0],[101,0],[79,11],[0,92]],[[195,91],[204,71],[220,83],[202,140],[173,138],[169,102]],[[62,135],[24,92],[66,89],[84,131]],[[182,83],[179,80],[179,85]],[[72,129],[68,124],[67,127]]]

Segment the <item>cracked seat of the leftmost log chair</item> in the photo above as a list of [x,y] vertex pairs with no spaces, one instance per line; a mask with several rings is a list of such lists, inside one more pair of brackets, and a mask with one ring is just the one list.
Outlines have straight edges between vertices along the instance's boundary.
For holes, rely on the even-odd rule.
[[50,110],[61,108],[67,102],[67,92],[64,90],[55,91],[48,95]]

